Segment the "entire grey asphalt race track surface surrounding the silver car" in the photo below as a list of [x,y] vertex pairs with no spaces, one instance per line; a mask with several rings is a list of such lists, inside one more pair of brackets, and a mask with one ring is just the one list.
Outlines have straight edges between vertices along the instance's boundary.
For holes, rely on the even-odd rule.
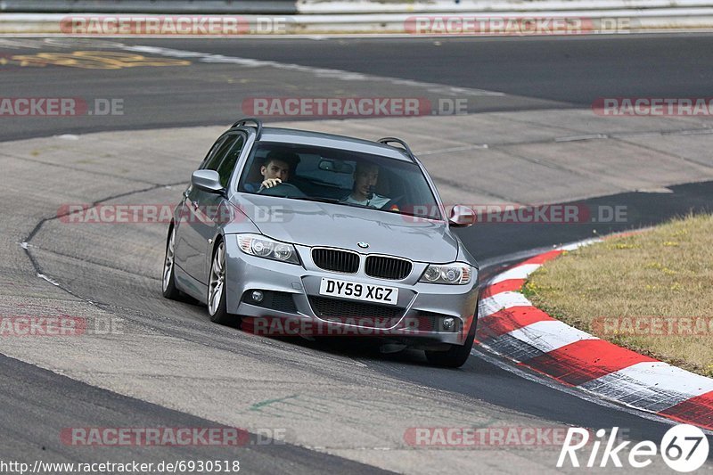
[[[195,127],[197,132],[192,128],[190,133],[201,138],[195,148],[206,151],[210,137],[217,136],[216,126],[244,115],[246,98],[345,91],[368,96],[402,91],[434,98],[446,91],[468,98],[468,116],[527,112],[538,117],[540,112],[586,110],[601,97],[708,97],[713,36],[3,37],[0,48],[8,59],[0,65],[0,95],[79,97],[89,103],[120,98],[126,111],[106,117],[0,117],[2,234],[8,248],[0,253],[0,314],[53,308],[61,314],[116,319],[124,329],[116,338],[98,335],[78,342],[0,339],[0,460],[229,459],[240,460],[247,473],[547,472],[558,455],[552,447],[422,449],[404,443],[404,428],[619,426],[631,439],[658,441],[670,427],[666,420],[545,381],[477,347],[463,368],[439,370],[416,351],[383,355],[361,341],[261,339],[215,325],[204,308],[161,297],[165,226],[63,225],[57,209],[71,202],[177,201],[202,156],[176,155],[188,140],[176,127]],[[156,62],[181,61],[176,52],[192,55],[184,56],[187,63],[181,65],[124,63],[96,69],[96,64],[61,64],[67,57],[60,55],[78,51],[113,61],[119,61],[116,53],[143,52]],[[40,53],[50,56],[38,58]],[[211,63],[206,54],[239,61]],[[250,60],[263,62],[250,65]],[[304,68],[275,67],[272,61]],[[348,73],[358,78],[348,78]],[[369,120],[329,127],[342,127],[347,135],[349,127],[364,133],[358,123],[369,127]],[[710,124],[699,124],[697,136],[709,133]],[[201,126],[212,128],[201,131]],[[685,127],[665,133],[678,133],[679,128]],[[140,132],[144,130],[151,132]],[[125,132],[111,135],[117,131]],[[136,131],[135,138],[130,131]],[[108,134],[97,139],[106,147],[103,155],[91,157],[83,154],[85,149],[71,148],[73,143],[88,146],[82,135],[96,132]],[[456,132],[479,134],[476,129]],[[68,136],[58,142],[53,135]],[[518,140],[512,137],[512,142]],[[698,150],[709,156],[705,150],[710,149]],[[77,160],[64,161],[69,155],[60,152]],[[419,149],[414,152],[418,155]],[[619,186],[558,200],[591,209],[626,207],[624,222],[488,223],[460,235],[482,263],[481,278],[486,279],[555,244],[645,227],[691,211],[713,211],[713,180],[692,176],[671,179],[663,189]],[[438,177],[436,181],[440,187]],[[444,186],[449,183],[444,177]],[[529,186],[514,177],[510,185]],[[71,427],[138,426],[245,427],[253,441],[260,428],[284,428],[287,442],[84,447],[67,445],[58,436]],[[710,435],[709,441],[713,443]],[[659,462],[651,469],[666,471]]]

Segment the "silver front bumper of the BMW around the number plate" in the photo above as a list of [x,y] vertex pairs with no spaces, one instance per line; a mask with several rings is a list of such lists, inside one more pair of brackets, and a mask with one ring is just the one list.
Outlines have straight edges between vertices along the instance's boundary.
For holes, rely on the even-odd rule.
[[[475,324],[478,279],[465,285],[418,283],[426,264],[414,262],[412,273],[403,281],[378,279],[365,274],[340,274],[318,268],[310,248],[295,246],[302,265],[287,264],[245,254],[232,234],[225,236],[226,303],[230,313],[255,317],[261,334],[279,336],[294,332],[316,335],[344,335],[407,340],[419,344],[462,345]],[[324,297],[319,294],[323,277],[354,283],[396,287],[397,304],[385,306],[354,299]],[[261,291],[265,299],[250,298]],[[337,315],[335,315],[337,314]],[[447,317],[455,327],[442,324]],[[289,325],[275,325],[275,319]]]

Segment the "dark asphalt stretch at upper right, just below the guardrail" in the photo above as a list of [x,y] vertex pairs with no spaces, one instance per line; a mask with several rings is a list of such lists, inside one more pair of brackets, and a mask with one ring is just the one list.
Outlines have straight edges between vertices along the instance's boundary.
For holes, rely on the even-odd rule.
[[[127,42],[129,43],[129,42]],[[134,43],[134,42],[131,42]],[[141,41],[171,46],[167,40]],[[181,49],[293,62],[588,106],[602,96],[711,94],[711,35],[185,41]]]

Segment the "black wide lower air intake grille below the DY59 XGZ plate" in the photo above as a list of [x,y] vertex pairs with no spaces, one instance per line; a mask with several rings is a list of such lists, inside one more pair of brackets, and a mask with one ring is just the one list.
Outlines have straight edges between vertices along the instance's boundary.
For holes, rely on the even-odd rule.
[[[360,324],[370,327],[394,326],[404,315],[404,308],[367,304],[355,300],[310,297],[309,303],[315,314],[330,322]],[[359,322],[359,319],[363,319]],[[347,320],[350,320],[347,322]]]

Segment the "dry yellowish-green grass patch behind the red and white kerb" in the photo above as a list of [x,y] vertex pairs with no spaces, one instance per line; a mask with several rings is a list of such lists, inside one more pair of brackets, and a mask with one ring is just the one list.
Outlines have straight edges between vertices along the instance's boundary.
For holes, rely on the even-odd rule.
[[713,376],[713,216],[565,252],[532,274],[523,293],[585,332]]

